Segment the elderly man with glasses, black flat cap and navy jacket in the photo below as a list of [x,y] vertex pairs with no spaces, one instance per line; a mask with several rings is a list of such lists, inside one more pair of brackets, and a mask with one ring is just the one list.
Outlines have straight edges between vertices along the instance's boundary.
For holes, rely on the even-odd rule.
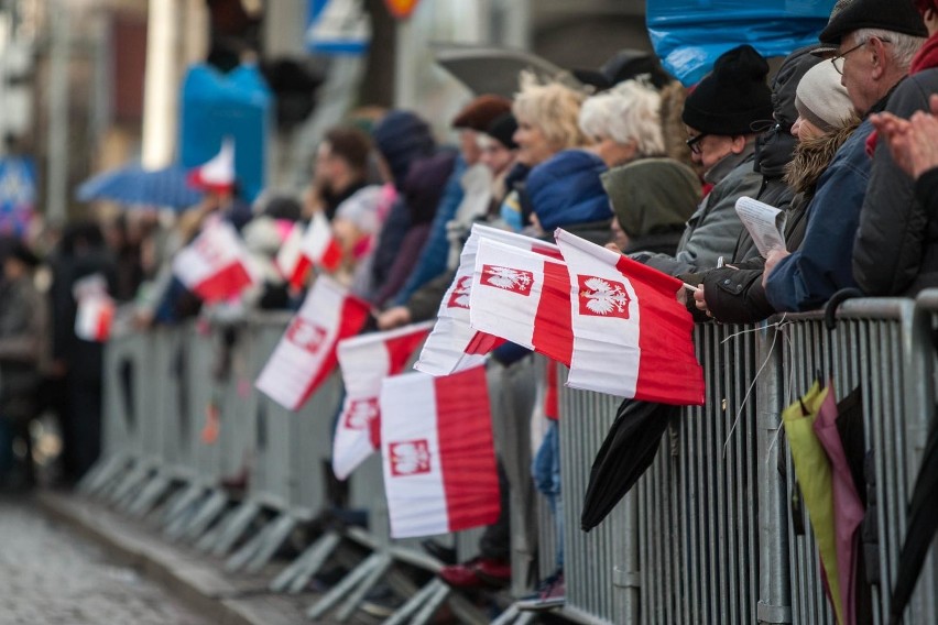
[[[870,184],[869,116],[886,108],[925,34],[912,0],[854,0],[832,14],[821,32],[821,44],[831,51],[830,63],[864,121],[818,180],[801,246],[790,254],[775,250],[766,259],[765,295],[776,310],[819,308],[837,290],[857,286],[851,259],[860,209],[864,201],[880,201],[896,191],[894,180]],[[837,179],[827,179],[830,176]]]

